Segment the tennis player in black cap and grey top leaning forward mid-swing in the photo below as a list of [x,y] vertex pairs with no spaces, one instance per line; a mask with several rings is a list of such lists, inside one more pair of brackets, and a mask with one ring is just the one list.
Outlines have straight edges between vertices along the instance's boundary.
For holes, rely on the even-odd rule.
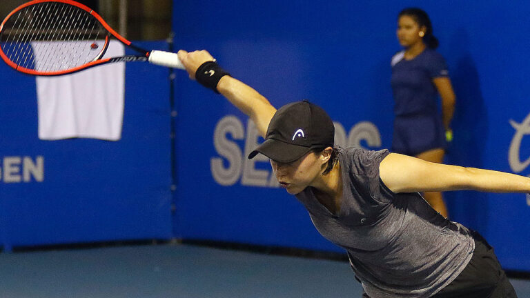
[[230,77],[206,51],[178,52],[192,79],[219,92],[256,124],[287,192],[315,228],[348,253],[363,297],[516,297],[493,248],[438,214],[418,192],[530,192],[530,179],[415,157],[335,148],[330,117],[307,101],[276,110]]

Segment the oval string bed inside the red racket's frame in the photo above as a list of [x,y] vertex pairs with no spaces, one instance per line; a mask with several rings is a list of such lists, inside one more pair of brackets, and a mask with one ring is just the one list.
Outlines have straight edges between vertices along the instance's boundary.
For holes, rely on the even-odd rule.
[[10,16],[0,31],[0,48],[18,66],[57,72],[101,58],[106,34],[89,12],[43,2]]

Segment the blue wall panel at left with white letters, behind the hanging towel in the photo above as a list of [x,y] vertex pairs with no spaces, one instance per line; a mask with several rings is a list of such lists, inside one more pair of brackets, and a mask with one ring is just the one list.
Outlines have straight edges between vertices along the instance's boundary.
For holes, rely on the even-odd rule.
[[121,140],[41,141],[35,78],[0,63],[0,168],[10,157],[42,157],[44,168],[43,181],[0,179],[0,242],[7,250],[171,237],[167,77],[167,68],[127,64]]

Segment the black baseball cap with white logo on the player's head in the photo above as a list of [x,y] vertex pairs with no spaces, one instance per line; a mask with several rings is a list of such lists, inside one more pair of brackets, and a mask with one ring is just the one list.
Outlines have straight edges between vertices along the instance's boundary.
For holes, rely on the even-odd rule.
[[265,141],[248,159],[262,153],[273,161],[290,163],[314,148],[333,147],[335,126],[320,106],[309,101],[288,103],[268,123]]

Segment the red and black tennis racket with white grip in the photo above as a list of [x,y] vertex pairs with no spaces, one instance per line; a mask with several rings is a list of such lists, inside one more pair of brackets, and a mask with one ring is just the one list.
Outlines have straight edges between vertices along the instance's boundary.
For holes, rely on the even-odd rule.
[[[139,54],[104,57],[111,37]],[[99,14],[71,0],[34,0],[10,12],[0,25],[0,57],[15,70],[37,76],[124,61],[184,69],[177,54],[134,46]]]

